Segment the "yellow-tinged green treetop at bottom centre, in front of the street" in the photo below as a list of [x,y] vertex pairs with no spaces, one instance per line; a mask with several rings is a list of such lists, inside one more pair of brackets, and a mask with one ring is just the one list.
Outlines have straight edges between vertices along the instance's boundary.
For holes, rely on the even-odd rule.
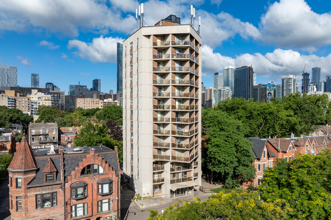
[[150,210],[147,220],[279,220],[289,219],[291,208],[284,200],[267,203],[259,200],[257,192],[212,194],[208,200],[173,204],[163,213]]

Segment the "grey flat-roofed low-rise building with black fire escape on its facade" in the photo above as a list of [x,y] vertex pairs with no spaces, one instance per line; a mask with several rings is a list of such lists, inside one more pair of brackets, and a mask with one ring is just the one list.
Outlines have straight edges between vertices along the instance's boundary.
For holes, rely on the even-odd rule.
[[29,145],[32,149],[57,146],[58,125],[57,123],[31,123],[28,128]]

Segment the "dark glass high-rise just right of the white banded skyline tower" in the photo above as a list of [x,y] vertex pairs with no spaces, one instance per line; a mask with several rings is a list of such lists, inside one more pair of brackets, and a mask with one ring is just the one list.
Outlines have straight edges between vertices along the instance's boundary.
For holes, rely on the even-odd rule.
[[[255,81],[254,81],[255,80]],[[234,71],[234,97],[253,98],[253,85],[256,83],[256,75],[253,67],[242,66]]]

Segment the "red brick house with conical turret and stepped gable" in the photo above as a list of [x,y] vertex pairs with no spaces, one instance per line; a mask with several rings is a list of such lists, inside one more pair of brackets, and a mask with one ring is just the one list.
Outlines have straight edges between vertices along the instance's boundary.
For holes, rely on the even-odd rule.
[[32,151],[24,136],[8,172],[12,220],[119,218],[117,147]]

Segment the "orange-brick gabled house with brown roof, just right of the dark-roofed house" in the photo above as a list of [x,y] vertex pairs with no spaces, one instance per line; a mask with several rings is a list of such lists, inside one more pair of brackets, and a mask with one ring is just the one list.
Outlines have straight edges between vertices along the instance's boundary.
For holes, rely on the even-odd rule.
[[285,159],[289,161],[294,159],[295,153],[297,152],[293,141],[285,138],[272,138],[266,142],[269,149],[276,155],[275,158]]

